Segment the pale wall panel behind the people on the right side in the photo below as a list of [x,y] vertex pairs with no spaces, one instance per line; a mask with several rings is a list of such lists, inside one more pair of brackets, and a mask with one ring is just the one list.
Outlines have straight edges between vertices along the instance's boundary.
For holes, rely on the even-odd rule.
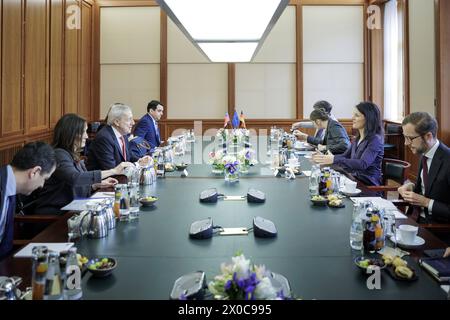
[[303,116],[327,100],[350,118],[364,97],[362,6],[303,6]]

